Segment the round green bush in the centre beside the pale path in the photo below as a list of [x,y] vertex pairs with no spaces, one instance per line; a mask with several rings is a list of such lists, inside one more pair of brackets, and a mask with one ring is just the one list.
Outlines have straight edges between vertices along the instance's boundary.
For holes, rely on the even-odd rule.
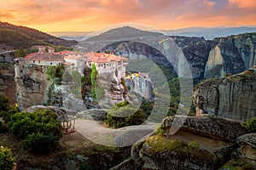
[[139,125],[145,121],[145,116],[141,109],[129,105],[128,101],[120,102],[113,105],[108,111],[105,122],[115,128]]

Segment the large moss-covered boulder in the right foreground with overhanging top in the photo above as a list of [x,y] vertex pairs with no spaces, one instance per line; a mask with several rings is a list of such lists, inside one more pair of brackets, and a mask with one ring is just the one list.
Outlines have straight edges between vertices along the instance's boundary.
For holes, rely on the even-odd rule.
[[[170,134],[172,127],[179,127],[177,133]],[[247,132],[239,122],[220,117],[166,117],[154,134],[132,146],[133,165],[137,169],[218,169],[230,160],[236,138]]]

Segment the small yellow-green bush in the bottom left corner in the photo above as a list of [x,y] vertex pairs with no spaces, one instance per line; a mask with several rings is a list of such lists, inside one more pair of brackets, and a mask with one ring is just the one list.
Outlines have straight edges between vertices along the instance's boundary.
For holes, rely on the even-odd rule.
[[15,167],[15,159],[12,151],[1,146],[0,148],[0,169],[13,170]]

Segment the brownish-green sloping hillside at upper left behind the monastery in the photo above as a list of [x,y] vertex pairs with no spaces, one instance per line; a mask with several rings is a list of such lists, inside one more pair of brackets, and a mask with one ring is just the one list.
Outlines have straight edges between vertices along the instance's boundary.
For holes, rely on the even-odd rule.
[[77,41],[67,41],[60,37],[53,37],[42,31],[25,26],[15,26],[0,21],[0,45],[8,45],[14,48],[29,48],[33,45],[55,45],[70,47]]

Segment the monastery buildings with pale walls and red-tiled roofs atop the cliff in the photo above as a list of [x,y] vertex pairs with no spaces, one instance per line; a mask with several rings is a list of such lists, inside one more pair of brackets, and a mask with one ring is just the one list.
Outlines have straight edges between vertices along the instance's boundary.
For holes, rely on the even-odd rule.
[[26,74],[30,64],[44,66],[44,68],[63,64],[83,75],[84,67],[91,68],[93,63],[95,63],[99,74],[118,71],[118,77],[121,78],[125,77],[125,66],[128,64],[128,58],[105,53],[79,54],[69,50],[55,53],[54,48],[38,46],[37,53],[27,54],[22,59],[15,59],[15,77]]

